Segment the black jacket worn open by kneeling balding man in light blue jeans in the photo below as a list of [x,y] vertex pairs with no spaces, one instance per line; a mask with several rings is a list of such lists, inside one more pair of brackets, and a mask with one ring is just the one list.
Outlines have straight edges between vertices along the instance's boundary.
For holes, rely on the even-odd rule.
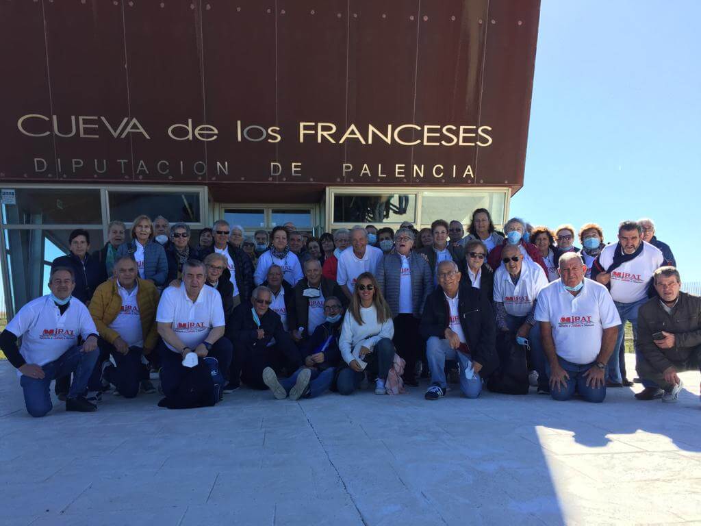
[[[458,289],[458,313],[460,325],[465,332],[472,360],[482,364],[482,377],[488,377],[498,365],[496,356],[496,322],[491,304],[479,294],[479,290],[460,285]],[[443,339],[449,325],[449,306],[443,289],[436,290],[426,298],[421,317],[421,335],[424,338],[437,336]]]

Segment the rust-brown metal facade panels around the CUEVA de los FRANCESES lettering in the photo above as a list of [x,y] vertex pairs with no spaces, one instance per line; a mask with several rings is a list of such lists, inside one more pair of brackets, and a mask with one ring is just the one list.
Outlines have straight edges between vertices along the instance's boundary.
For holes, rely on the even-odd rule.
[[[3,0],[0,182],[207,184],[217,201],[240,202],[311,201],[327,185],[515,191],[539,9],[538,0]],[[21,133],[25,115],[49,119],[26,119],[25,130],[49,133]],[[73,136],[53,133],[54,115],[64,135],[75,116]],[[79,137],[79,116],[98,118],[83,130],[98,137]],[[149,138],[122,137],[126,124],[115,138],[124,119]],[[188,119],[215,126],[217,139],[168,137]],[[238,121],[282,138],[238,142]],[[351,124],[489,126],[492,143],[300,143],[300,121],[335,123],[336,138]],[[402,136],[421,139],[414,128]],[[364,164],[370,175],[360,175]],[[443,177],[428,171],[437,165]],[[453,165],[474,177],[451,177]]]

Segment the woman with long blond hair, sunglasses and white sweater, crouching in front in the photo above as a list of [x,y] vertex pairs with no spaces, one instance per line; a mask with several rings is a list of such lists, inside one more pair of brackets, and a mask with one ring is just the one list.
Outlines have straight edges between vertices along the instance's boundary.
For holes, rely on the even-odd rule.
[[342,395],[358,389],[367,370],[376,376],[375,394],[386,393],[385,382],[394,360],[394,324],[392,311],[382,296],[375,276],[363,272],[353,289],[351,306],[343,318],[339,349],[348,364],[336,380],[336,388]]

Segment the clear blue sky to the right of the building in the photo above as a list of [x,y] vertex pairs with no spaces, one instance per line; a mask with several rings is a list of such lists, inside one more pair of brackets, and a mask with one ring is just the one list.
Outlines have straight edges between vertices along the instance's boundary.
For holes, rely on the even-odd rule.
[[511,215],[615,241],[649,216],[701,281],[701,1],[543,0],[524,188]]

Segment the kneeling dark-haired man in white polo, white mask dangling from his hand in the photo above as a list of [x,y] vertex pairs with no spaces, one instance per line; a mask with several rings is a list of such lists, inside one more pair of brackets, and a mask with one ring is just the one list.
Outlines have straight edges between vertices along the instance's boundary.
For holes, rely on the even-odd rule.
[[233,351],[224,337],[222,297],[204,286],[205,276],[204,264],[190,259],[182,268],[184,286],[165,289],[158,304],[161,407],[204,407],[221,399],[221,371],[229,369]]

